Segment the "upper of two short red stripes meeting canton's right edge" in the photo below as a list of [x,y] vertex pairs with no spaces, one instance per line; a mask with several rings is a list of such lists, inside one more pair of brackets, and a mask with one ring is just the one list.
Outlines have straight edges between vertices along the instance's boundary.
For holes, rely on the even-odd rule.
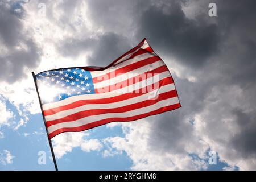
[[137,63],[126,65],[125,67],[115,69],[114,71],[106,73],[102,76],[94,77],[93,84],[96,84],[98,82],[102,82],[105,80],[109,80],[110,78],[114,78],[118,75],[133,71],[134,69],[141,68],[145,65],[152,64],[152,63],[155,63],[156,61],[160,61],[160,60],[161,60],[160,57],[154,56],[154,57],[149,57],[147,59],[138,61]]

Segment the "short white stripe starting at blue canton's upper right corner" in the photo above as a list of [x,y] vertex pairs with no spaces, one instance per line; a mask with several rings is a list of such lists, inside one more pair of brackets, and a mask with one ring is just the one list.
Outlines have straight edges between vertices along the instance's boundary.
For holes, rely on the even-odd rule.
[[129,64],[133,64],[133,63],[137,63],[138,61],[141,61],[141,60],[144,60],[144,59],[147,59],[147,58],[150,58],[150,57],[154,57],[156,55],[152,55],[151,53],[143,53],[141,55],[138,55],[138,56],[135,56],[134,58],[132,59],[129,59],[127,61],[124,61],[123,63],[120,63],[118,65],[115,65],[115,66],[112,66],[108,69],[105,69],[105,70],[102,70],[102,71],[92,71],[90,72],[90,74],[92,75],[92,78],[95,78],[95,77],[100,77],[102,75],[105,75],[111,71],[113,71],[113,68],[114,69],[119,69],[119,68],[123,68]]

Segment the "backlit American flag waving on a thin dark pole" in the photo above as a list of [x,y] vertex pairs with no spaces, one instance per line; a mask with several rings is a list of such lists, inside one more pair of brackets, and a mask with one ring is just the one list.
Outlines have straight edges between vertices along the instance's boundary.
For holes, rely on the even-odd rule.
[[105,68],[55,69],[35,80],[49,139],[181,107],[170,71],[146,39]]

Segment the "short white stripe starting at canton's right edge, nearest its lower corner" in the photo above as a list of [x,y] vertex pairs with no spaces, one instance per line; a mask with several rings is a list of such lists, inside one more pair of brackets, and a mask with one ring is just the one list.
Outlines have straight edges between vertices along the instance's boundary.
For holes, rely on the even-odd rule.
[[[96,84],[93,84],[94,89],[100,89],[100,88],[104,88],[105,86],[110,86],[110,85],[113,85],[113,84],[117,84],[118,82],[128,80],[130,78],[133,78],[133,77],[138,76],[142,73],[151,71],[151,70],[156,69],[158,67],[161,67],[163,65],[164,65],[163,61],[159,60],[159,61],[156,61],[155,63],[144,65],[143,67],[133,69],[130,72],[126,72],[126,73],[120,74],[120,75],[115,76],[115,77],[110,76],[110,77],[113,77],[113,78],[110,78],[108,80],[106,80],[107,79],[106,78],[104,81],[97,82]],[[144,76],[146,77],[147,75],[144,75]]]

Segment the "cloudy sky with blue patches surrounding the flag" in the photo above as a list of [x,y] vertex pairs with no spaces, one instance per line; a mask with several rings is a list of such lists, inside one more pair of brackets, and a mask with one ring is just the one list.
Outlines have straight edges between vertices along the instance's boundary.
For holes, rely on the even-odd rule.
[[0,0],[0,171],[54,170],[32,71],[105,67],[143,38],[170,69],[182,107],[57,135],[59,169],[255,170],[255,6]]

